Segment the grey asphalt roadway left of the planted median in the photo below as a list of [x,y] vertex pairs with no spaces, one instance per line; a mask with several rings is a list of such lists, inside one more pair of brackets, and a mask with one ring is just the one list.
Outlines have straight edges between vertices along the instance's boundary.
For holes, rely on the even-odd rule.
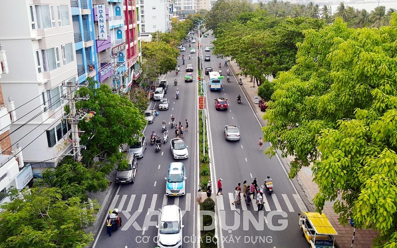
[[[196,44],[191,44],[196,48]],[[170,100],[169,110],[158,110],[158,103],[155,109],[159,115],[155,118],[154,123],[148,124],[144,134],[147,141],[147,149],[144,157],[138,159],[138,170],[135,177],[135,183],[130,185],[120,185],[114,195],[111,203],[111,209],[116,207],[122,211],[122,226],[112,233],[112,237],[106,233],[106,227],[100,230],[97,237],[95,248],[117,247],[124,248],[153,248],[156,247],[158,214],[163,205],[176,204],[184,213],[183,229],[184,247],[196,247],[194,234],[196,229],[196,191],[198,182],[195,180],[195,161],[197,161],[197,83],[184,82],[185,67],[188,63],[194,64],[194,78],[197,79],[197,54],[191,54],[189,60],[189,42],[185,42],[186,52],[181,52],[179,64],[181,71],[179,75],[175,71],[167,75],[169,83],[168,92],[165,95]],[[185,55],[185,65],[182,64],[182,54]],[[179,84],[174,85],[174,79],[177,78]],[[180,98],[175,99],[176,89],[179,88]],[[152,103],[153,104],[153,103]],[[184,140],[189,150],[189,158],[175,160],[170,150],[170,140],[175,137],[175,129],[171,130],[170,120],[174,115],[176,122],[183,124],[185,130],[185,120],[189,122],[189,131],[185,130]],[[154,145],[150,144],[150,134],[152,130],[156,134],[161,134],[161,123],[165,120],[169,130],[169,140],[162,144],[162,149],[156,153]],[[165,195],[168,166],[171,162],[182,162],[186,167],[187,184],[186,195],[169,196]],[[197,168],[196,168],[197,170]],[[103,220],[105,223],[105,220]]]

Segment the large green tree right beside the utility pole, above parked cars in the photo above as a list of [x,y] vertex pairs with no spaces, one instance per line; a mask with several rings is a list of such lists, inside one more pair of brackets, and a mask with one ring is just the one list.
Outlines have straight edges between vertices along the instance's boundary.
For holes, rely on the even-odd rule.
[[122,158],[119,147],[132,144],[134,135],[139,135],[146,125],[144,115],[128,96],[112,93],[105,84],[97,88],[91,81],[88,87],[77,92],[77,96],[89,96],[88,100],[76,103],[77,110],[96,112],[89,122],[78,123],[79,129],[84,131],[80,135],[80,144],[86,146],[82,152],[84,164],[89,165],[94,158],[99,158],[96,168],[108,174]]

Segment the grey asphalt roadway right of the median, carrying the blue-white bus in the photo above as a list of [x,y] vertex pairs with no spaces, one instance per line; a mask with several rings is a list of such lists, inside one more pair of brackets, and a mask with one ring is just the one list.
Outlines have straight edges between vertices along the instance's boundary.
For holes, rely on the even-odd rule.
[[[202,38],[202,47],[211,46],[213,39],[212,35]],[[211,52],[203,55],[208,54]],[[204,67],[219,70],[219,62],[226,77],[228,66],[223,65],[224,59],[211,56],[211,61],[204,62]],[[242,96],[241,104],[236,102],[238,94]],[[215,110],[213,99],[217,97],[228,99],[227,111]],[[263,136],[261,126],[233,75],[229,83],[226,78],[222,79],[221,91],[207,91],[207,106],[213,183],[216,185],[219,178],[223,180],[223,195],[216,196],[217,214],[220,216],[217,232],[222,237],[220,247],[307,247],[298,226],[298,213],[304,211],[305,206],[277,157],[269,159],[264,155],[263,150],[269,144],[264,144],[259,151],[259,138]],[[225,140],[223,126],[227,124],[240,126],[240,141]],[[258,185],[262,186],[267,175],[273,180],[274,193],[264,193],[264,211],[256,211],[255,203],[246,205],[244,200],[240,205],[231,204],[238,183],[243,188],[246,180],[250,186],[257,177]]]

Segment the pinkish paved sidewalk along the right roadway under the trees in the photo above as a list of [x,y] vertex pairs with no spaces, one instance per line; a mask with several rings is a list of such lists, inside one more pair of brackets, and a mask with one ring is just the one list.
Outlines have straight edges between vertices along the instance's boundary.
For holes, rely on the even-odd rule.
[[[236,62],[229,62],[229,66],[234,74],[240,73],[241,69]],[[255,111],[258,119],[260,120],[261,124],[264,126],[266,125],[266,121],[263,120],[263,115],[265,112],[261,112],[258,104],[255,104],[255,96],[258,96],[258,85],[254,82],[250,82],[251,78],[245,76],[236,76],[237,79],[241,78],[243,81],[243,85],[241,88],[244,91],[244,94],[247,96],[250,105]],[[233,79],[234,80],[234,79]],[[272,78],[269,78],[271,81]],[[244,98],[243,98],[244,99]],[[281,157],[281,156],[280,156]],[[285,164],[289,166],[290,162],[294,160],[293,156],[288,156],[286,159],[282,159]],[[319,188],[316,183],[313,182],[312,170],[311,167],[304,167],[298,173],[298,176],[294,179],[295,182],[301,187],[297,188],[300,191],[301,197],[307,197],[303,199],[304,202],[309,202],[308,210],[314,211],[313,208],[313,197],[319,192]],[[353,237],[354,228],[350,225],[342,226],[338,222],[338,215],[334,213],[332,209],[333,202],[327,202],[324,206],[323,213],[325,213],[330,220],[332,226],[335,228],[338,235],[336,236],[336,243],[339,248],[351,248],[351,242]],[[298,227],[298,226],[297,226]],[[356,230],[356,234],[354,237],[354,246],[353,248],[371,248],[372,247],[372,240],[377,236],[377,233],[370,230]]]

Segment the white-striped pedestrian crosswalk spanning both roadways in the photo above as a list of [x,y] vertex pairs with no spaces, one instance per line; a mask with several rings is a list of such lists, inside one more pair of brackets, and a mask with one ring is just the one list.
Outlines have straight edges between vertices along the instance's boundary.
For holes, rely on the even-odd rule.
[[[288,197],[287,194],[264,194],[264,211],[284,211],[284,212],[304,212],[307,211],[305,204],[298,194],[292,194],[292,197]],[[217,207],[219,210],[232,210],[236,211],[236,209],[242,210],[258,210],[258,206],[253,199],[250,205],[247,205],[244,202],[243,195],[241,195],[242,200],[241,204],[235,203],[232,205],[231,203],[234,201],[233,193],[228,193],[227,195],[218,195],[215,196],[217,198]],[[162,199],[161,199],[162,198]],[[150,203],[149,203],[150,202]],[[161,203],[161,205],[160,205]],[[166,194],[142,194],[142,195],[115,195],[110,208],[114,209],[118,208],[119,211],[139,211],[142,212],[144,207],[147,211],[154,211],[161,209],[165,205],[175,204],[181,208],[182,211],[191,211],[192,204],[195,206],[195,199],[192,199],[192,194],[187,193],[185,196],[167,196]]]

